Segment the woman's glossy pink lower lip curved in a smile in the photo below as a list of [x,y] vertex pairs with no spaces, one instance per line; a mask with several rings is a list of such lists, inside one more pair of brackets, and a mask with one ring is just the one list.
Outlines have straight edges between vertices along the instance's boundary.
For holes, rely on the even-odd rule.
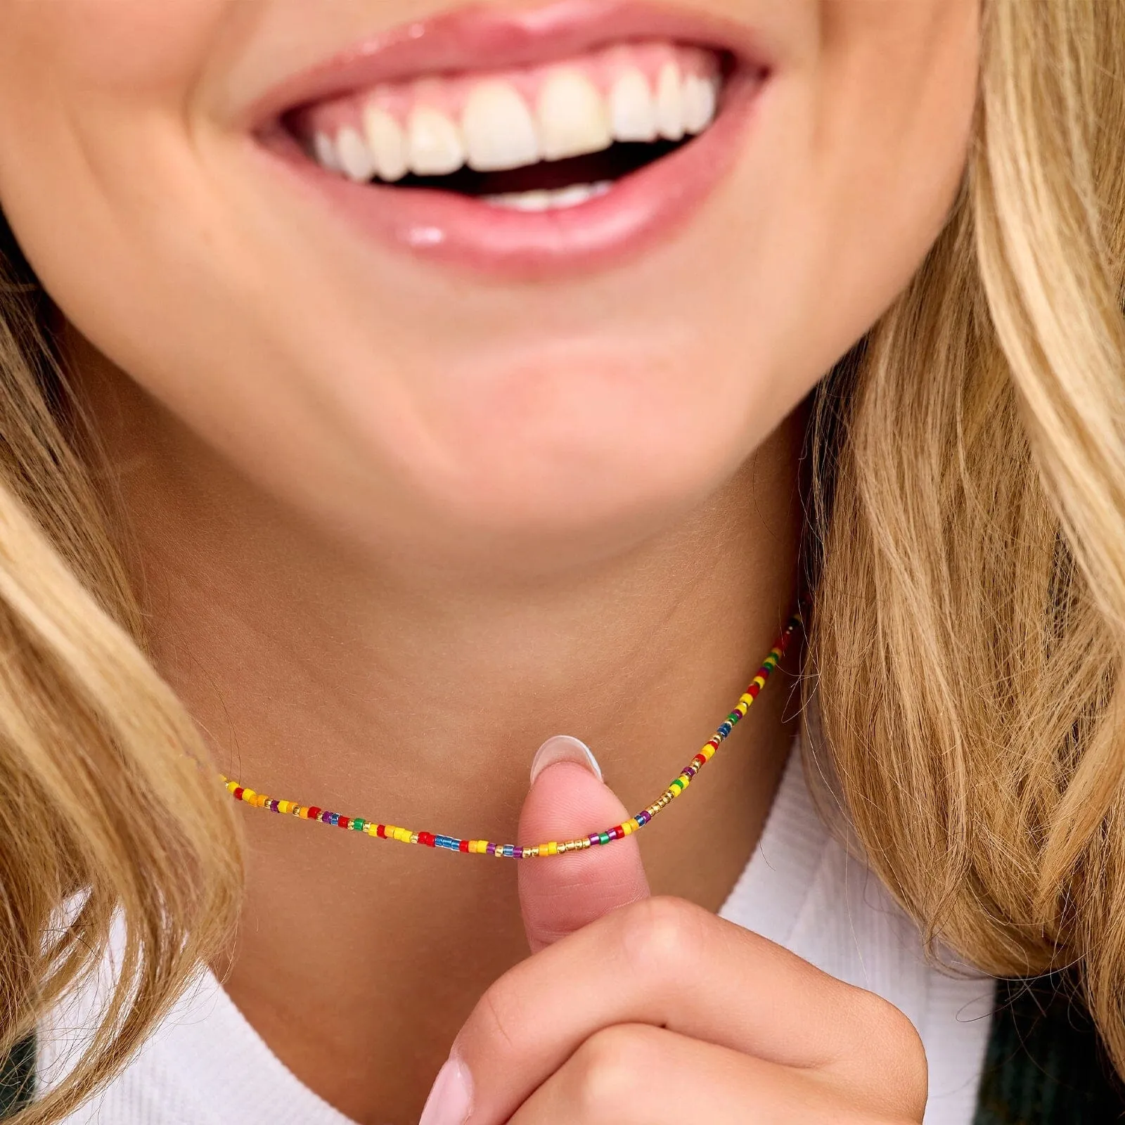
[[414,258],[515,279],[621,264],[699,213],[735,163],[766,79],[736,72],[708,130],[576,207],[519,212],[426,188],[353,183],[282,130],[261,150],[367,237]]

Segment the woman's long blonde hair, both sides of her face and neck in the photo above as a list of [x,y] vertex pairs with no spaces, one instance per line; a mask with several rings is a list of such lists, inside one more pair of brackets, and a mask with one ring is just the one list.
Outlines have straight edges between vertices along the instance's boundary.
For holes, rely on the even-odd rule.
[[[1125,4],[986,0],[982,50],[946,228],[817,396],[807,683],[874,870],[991,973],[1077,966],[1125,1073]],[[97,965],[115,910],[129,935],[98,1036],[26,1125],[218,954],[240,866],[7,258],[0,1052]]]

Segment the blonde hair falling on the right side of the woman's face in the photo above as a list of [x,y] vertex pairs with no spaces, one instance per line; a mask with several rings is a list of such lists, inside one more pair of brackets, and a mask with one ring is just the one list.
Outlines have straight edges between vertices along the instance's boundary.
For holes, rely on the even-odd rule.
[[853,831],[1125,1073],[1125,4],[984,6],[961,198],[820,388],[808,696]]

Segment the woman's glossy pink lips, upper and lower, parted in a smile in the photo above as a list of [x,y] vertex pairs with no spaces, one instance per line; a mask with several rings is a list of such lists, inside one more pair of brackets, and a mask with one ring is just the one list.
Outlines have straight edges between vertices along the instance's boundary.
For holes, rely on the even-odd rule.
[[[282,124],[302,106],[379,82],[543,64],[630,38],[710,47],[736,66],[703,134],[573,208],[514,212],[449,191],[353,183],[310,160]],[[469,8],[377,35],[282,81],[252,107],[251,133],[299,191],[369,237],[475,272],[552,277],[624,262],[680,230],[735,163],[772,71],[753,30],[672,8],[597,0]]]

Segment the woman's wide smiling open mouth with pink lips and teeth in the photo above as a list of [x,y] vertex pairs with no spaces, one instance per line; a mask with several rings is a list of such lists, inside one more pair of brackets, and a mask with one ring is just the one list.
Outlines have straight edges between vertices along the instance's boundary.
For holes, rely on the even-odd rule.
[[737,35],[667,9],[469,10],[298,76],[255,134],[382,241],[543,274],[670,236],[734,162],[768,76]]

